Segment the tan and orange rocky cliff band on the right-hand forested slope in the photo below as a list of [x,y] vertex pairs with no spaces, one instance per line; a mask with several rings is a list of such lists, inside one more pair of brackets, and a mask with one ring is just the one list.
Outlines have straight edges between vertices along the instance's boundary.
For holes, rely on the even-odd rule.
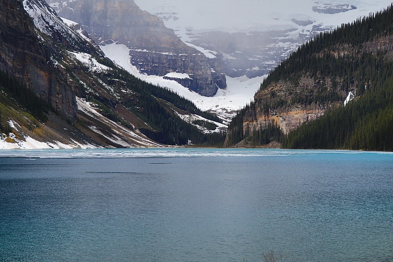
[[[327,102],[329,94],[336,94],[339,102]],[[345,95],[340,88],[334,88],[330,80],[315,81],[307,76],[296,85],[289,81],[273,83],[255,93],[255,106],[243,118],[243,132],[250,133],[274,123],[287,134],[340,104]]]

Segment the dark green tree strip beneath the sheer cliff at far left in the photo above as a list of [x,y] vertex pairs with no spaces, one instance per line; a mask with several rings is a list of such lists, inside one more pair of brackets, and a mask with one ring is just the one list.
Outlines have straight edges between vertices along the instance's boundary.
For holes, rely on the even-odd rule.
[[49,110],[52,110],[51,105],[41,97],[37,96],[32,89],[21,84],[7,72],[3,72],[1,70],[0,87],[9,97],[15,99],[19,105],[25,108],[35,118],[43,122],[48,119],[47,113]]

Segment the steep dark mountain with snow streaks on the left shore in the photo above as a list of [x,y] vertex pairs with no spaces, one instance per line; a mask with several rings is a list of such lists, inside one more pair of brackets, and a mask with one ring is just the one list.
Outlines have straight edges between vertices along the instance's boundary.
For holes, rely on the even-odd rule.
[[220,144],[217,117],[135,78],[64,21],[43,0],[3,1],[0,148]]

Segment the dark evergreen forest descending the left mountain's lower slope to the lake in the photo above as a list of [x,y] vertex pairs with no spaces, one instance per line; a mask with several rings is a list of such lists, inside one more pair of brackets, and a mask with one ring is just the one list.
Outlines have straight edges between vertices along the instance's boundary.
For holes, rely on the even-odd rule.
[[[196,126],[175,115],[166,102],[188,113],[222,122],[217,116],[199,110],[193,102],[168,88],[157,87],[137,79],[122,68],[116,68],[112,73],[107,74],[106,84],[116,87],[120,83],[131,91],[123,94],[120,103],[151,127],[151,129],[140,128],[140,131],[149,138],[166,145],[192,143],[199,146],[223,146],[225,132],[209,134],[201,132]],[[110,107],[107,105],[107,108]],[[113,114],[106,113],[118,120],[118,117],[112,116]]]

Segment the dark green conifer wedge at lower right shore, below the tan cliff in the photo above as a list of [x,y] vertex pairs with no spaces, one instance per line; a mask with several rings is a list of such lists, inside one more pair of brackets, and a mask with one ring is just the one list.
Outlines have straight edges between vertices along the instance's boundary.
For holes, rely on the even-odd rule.
[[328,111],[284,137],[284,148],[393,151],[393,76],[358,101]]

